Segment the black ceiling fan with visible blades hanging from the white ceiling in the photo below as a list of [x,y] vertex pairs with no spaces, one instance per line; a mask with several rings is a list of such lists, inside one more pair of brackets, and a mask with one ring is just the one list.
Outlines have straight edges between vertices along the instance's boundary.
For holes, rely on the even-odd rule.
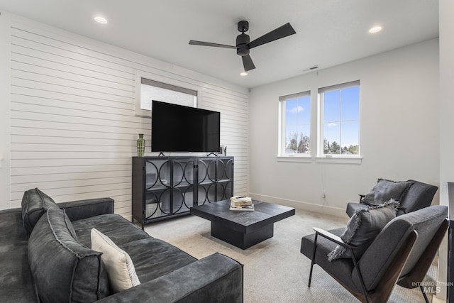
[[265,35],[262,35],[261,37],[255,39],[253,41],[250,41],[249,35],[245,34],[245,32],[248,30],[249,30],[248,21],[238,22],[238,31],[240,32],[240,35],[238,35],[236,37],[236,46],[196,41],[196,40],[190,40],[189,44],[190,45],[214,46],[216,48],[233,48],[233,49],[236,48],[236,54],[240,55],[241,58],[243,59],[244,71],[248,72],[249,70],[255,69],[254,62],[250,58],[250,55],[249,55],[249,50],[251,48],[255,48],[259,45],[269,43],[274,40],[278,40],[280,38],[287,37],[287,35],[293,35],[294,33],[297,33],[296,31],[294,31],[294,29],[292,28],[290,23],[286,23],[283,26],[280,26],[279,28],[276,28],[275,30],[270,31],[270,33],[266,33]]

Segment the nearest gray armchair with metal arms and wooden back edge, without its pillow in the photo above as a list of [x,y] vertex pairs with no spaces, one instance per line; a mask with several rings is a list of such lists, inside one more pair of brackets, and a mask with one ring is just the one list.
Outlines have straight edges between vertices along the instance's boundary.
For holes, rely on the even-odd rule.
[[[344,228],[323,231],[301,239],[301,253],[311,259],[309,287],[314,264],[361,302],[387,302],[394,285],[420,287],[448,227],[446,206],[429,206],[389,221],[360,258],[353,246],[339,237]],[[328,261],[337,245],[350,250],[352,258]],[[428,299],[424,294],[426,302]]]

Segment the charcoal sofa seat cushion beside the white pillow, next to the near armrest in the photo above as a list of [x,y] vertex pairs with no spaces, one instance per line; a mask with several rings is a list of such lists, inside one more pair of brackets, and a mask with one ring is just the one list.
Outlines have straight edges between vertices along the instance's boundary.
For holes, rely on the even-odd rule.
[[142,284],[197,260],[183,250],[156,238],[145,238],[118,246],[131,256],[135,272]]

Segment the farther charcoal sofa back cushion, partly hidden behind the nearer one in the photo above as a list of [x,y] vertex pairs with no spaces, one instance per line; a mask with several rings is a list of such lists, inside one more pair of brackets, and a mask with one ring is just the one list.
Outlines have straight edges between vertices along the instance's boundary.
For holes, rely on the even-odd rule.
[[38,188],[29,189],[22,197],[22,223],[28,234],[31,234],[36,222],[48,211],[48,209],[60,209],[58,205]]

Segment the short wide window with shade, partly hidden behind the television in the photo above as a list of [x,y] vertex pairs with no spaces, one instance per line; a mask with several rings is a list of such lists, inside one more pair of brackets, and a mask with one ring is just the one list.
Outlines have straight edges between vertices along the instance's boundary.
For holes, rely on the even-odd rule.
[[140,99],[135,101],[135,114],[150,117],[153,100],[196,107],[197,91],[140,77]]

